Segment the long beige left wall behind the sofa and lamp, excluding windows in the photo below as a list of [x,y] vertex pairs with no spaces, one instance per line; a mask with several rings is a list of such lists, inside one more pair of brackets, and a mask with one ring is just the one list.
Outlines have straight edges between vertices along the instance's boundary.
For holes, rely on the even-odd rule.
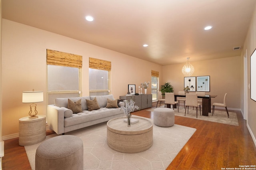
[[[22,91],[44,91],[44,102],[37,103],[39,115],[46,115],[46,49],[83,56],[82,95],[88,92],[89,57],[112,62],[111,93],[115,98],[127,93],[128,84],[151,81],[151,70],[162,74],[160,65],[143,61],[37,28],[2,20],[2,135],[18,134],[18,120],[28,116],[29,104],[22,103]],[[150,93],[151,88],[148,89]]]

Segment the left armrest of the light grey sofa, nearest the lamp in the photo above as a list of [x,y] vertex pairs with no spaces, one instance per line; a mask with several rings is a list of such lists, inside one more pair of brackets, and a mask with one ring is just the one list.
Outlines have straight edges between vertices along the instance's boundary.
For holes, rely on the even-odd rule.
[[48,105],[47,124],[57,134],[64,133],[64,109],[55,105]]

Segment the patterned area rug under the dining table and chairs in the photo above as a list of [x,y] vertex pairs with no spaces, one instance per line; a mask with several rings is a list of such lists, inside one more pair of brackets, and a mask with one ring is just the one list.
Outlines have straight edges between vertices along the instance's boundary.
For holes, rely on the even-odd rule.
[[[164,106],[161,106],[161,107],[164,107]],[[154,111],[154,109],[155,108],[148,109],[147,111]],[[201,112],[202,112],[202,107],[201,107]],[[202,116],[202,115],[200,116],[200,110],[198,108],[198,114],[197,114],[197,118],[196,118],[196,108],[194,108],[194,110],[193,110],[192,107],[190,107],[190,109],[188,111],[186,111],[186,117],[192,118],[192,119],[200,119],[200,120],[204,120],[204,121],[224,123],[224,124],[228,124],[228,125],[238,126],[239,123],[238,123],[236,113],[230,112],[230,111],[228,113],[229,113],[229,118],[228,118],[226,111],[218,111],[218,110],[214,110],[213,116],[212,116],[212,113],[209,113],[209,116]],[[185,117],[184,107],[183,106],[179,107],[179,112],[178,112],[178,109],[174,108],[174,114],[176,116]]]

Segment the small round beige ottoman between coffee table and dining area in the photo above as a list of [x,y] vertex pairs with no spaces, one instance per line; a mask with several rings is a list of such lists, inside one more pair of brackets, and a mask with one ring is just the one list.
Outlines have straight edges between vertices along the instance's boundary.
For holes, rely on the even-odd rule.
[[174,125],[174,110],[166,107],[154,109],[154,124],[159,127],[171,127]]

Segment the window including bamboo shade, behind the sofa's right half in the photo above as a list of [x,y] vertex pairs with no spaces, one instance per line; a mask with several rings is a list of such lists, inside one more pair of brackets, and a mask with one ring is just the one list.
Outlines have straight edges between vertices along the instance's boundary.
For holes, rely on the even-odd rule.
[[89,58],[89,93],[90,96],[108,95],[110,92],[111,62]]

